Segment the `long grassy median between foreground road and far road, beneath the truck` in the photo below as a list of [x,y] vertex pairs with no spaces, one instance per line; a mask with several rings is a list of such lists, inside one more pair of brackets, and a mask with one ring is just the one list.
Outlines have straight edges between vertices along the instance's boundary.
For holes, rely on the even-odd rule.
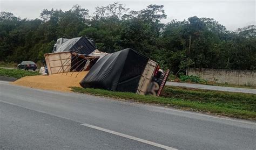
[[[163,91],[163,96],[154,97],[136,95],[129,92],[113,92],[102,89],[83,89],[78,87],[72,87],[71,89],[72,91],[85,94],[129,99],[141,103],[160,104],[171,106],[173,108],[181,108],[192,111],[212,113],[215,115],[256,120],[256,96],[250,94],[238,94],[240,97],[235,98],[238,95],[233,94],[232,92],[223,92],[221,96],[218,96],[219,92],[215,91],[208,91],[206,94],[203,94],[205,91],[194,91],[196,94],[193,94],[186,91],[185,89],[172,89],[172,87],[167,87]],[[180,96],[174,96],[176,94]],[[194,95],[196,95],[195,98],[193,98]],[[212,96],[213,98],[211,98]],[[241,102],[239,102],[239,100]]]

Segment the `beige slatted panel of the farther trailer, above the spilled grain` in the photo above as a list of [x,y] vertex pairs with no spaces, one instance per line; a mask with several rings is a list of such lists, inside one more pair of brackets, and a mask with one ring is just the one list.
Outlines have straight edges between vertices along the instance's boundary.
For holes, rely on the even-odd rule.
[[71,53],[59,52],[44,54],[49,75],[70,72]]

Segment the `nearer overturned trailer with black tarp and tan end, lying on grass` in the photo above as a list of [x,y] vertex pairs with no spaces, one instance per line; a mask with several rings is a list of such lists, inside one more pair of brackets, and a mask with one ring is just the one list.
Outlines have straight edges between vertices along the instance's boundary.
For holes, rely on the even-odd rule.
[[156,62],[131,48],[104,56],[92,66],[80,85],[112,91],[159,96],[169,72],[159,71]]

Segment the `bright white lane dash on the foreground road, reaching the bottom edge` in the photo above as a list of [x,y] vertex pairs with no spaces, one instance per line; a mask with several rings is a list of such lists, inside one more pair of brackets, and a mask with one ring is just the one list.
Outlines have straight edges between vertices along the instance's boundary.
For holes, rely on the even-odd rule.
[[172,148],[172,147],[169,147],[169,146],[157,144],[156,142],[152,142],[152,141],[136,138],[136,137],[133,137],[131,135],[127,135],[127,134],[123,134],[123,133],[107,130],[105,128],[101,128],[101,127],[98,127],[98,126],[89,125],[89,124],[82,124],[82,125],[86,126],[86,127],[94,128],[96,130],[100,130],[100,131],[104,131],[104,132],[107,132],[107,133],[115,134],[115,135],[118,135],[120,137],[124,137],[124,138],[128,138],[128,139],[136,140],[136,141],[139,141],[139,142],[143,142],[145,144],[149,144],[149,145],[152,145],[152,146],[156,146],[156,147],[160,147],[160,148],[164,148],[164,149],[168,149],[168,150],[178,150],[176,148]]

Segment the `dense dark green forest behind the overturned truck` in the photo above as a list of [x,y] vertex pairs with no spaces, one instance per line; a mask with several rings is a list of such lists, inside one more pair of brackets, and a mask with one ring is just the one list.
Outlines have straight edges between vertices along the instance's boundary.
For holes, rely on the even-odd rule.
[[255,25],[228,31],[211,18],[166,18],[163,5],[133,11],[118,2],[89,10],[74,5],[69,11],[44,9],[40,19],[0,13],[0,61],[42,61],[58,38],[93,38],[107,53],[133,48],[170,68],[256,69]]

